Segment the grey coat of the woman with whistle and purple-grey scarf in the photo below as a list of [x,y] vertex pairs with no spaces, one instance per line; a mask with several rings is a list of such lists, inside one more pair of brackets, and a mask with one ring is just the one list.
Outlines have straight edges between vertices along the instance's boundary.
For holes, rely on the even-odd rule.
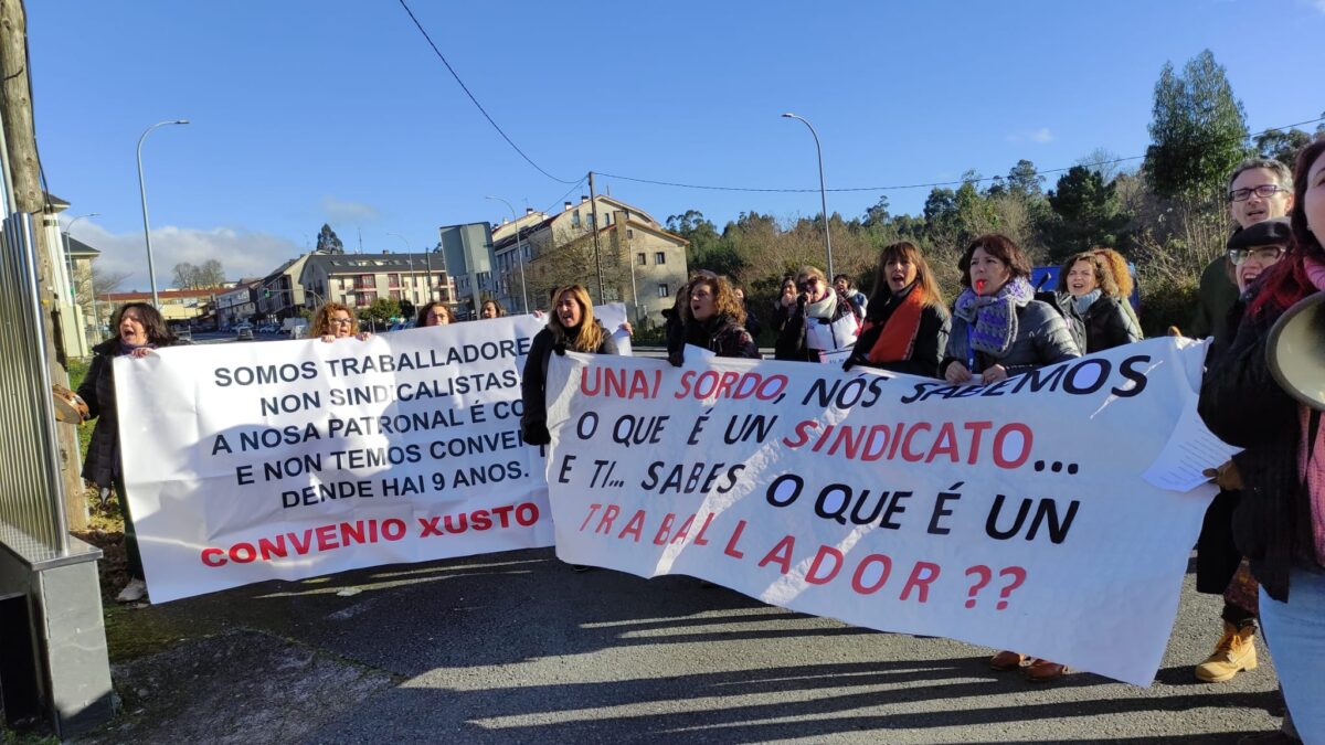
[[[953,315],[953,333],[947,337],[947,349],[943,353],[943,363],[939,366],[939,376],[953,362],[967,363],[967,329],[970,323],[958,315]],[[987,353],[975,353],[975,369],[971,372],[982,372],[994,365],[1002,365],[1008,375],[1018,375],[1081,357],[1081,350],[1072,341],[1067,322],[1059,312],[1045,302],[1032,300],[1016,309],[1016,338],[1003,357],[995,358]]]

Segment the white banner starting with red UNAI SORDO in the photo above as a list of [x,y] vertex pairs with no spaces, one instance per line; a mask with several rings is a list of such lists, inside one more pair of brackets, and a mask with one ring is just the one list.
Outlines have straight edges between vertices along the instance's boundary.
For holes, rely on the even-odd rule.
[[554,357],[556,553],[1149,685],[1227,457],[1203,357],[1151,339],[987,386]]

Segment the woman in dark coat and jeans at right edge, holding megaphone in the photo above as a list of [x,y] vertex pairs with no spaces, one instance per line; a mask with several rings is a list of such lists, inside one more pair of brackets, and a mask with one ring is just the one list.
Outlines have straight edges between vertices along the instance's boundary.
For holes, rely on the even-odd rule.
[[1275,376],[1279,365],[1317,362],[1325,338],[1317,327],[1314,350],[1268,343],[1295,304],[1325,292],[1325,138],[1297,155],[1293,195],[1293,248],[1261,276],[1232,345],[1206,371],[1200,415],[1246,448],[1232,459],[1243,483],[1234,538],[1260,582],[1264,639],[1297,733],[1325,742],[1325,402],[1300,403],[1310,391],[1291,395]]

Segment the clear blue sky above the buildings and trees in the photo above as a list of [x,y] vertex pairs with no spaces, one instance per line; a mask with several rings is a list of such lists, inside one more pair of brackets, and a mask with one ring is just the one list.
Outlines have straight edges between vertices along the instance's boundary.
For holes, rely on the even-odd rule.
[[[692,184],[916,184],[1019,158],[1067,167],[1140,155],[1165,61],[1210,48],[1261,130],[1325,110],[1325,0],[1109,3],[439,3],[408,0],[470,91],[542,168]],[[135,146],[158,282],[219,258],[231,278],[311,248],[423,251],[437,227],[497,221],[497,195],[560,208],[570,184],[525,163],[398,1],[28,3],[36,123],[49,188],[76,237],[146,289]],[[1276,40],[1276,44],[1271,44]],[[1313,127],[1306,127],[1313,129]],[[1052,186],[1052,179],[1048,186]],[[694,208],[792,219],[819,195],[599,176],[660,221]],[[881,194],[920,212],[928,188]],[[587,187],[566,199],[578,200]],[[391,233],[404,236],[404,240]]]

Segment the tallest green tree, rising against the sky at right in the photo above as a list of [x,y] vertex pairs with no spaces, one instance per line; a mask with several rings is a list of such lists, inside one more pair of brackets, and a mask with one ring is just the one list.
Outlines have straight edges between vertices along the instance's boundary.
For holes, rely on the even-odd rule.
[[1247,155],[1247,134],[1243,105],[1208,49],[1190,60],[1181,76],[1165,62],[1143,166],[1150,188],[1165,198],[1215,199]]

